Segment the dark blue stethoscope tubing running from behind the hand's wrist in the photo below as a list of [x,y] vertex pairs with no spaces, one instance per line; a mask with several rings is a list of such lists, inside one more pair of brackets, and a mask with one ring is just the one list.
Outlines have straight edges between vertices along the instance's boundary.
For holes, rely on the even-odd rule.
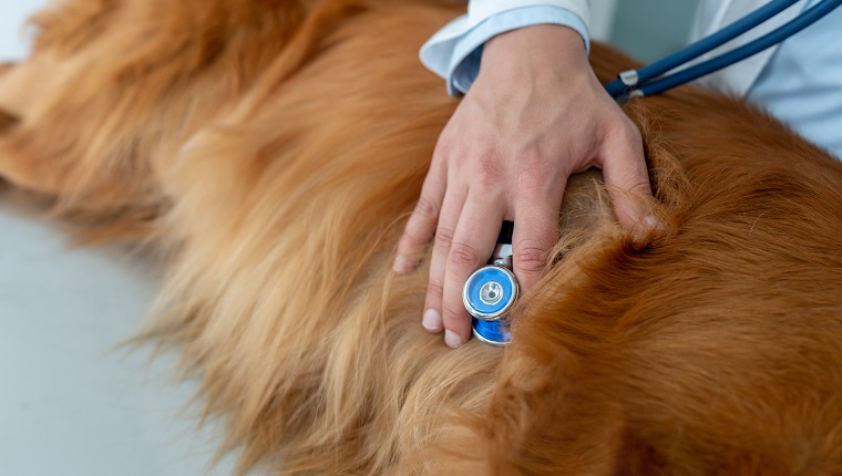
[[620,73],[620,77],[605,85],[608,94],[619,102],[625,102],[632,96],[649,96],[663,93],[672,87],[697,80],[715,71],[730,66],[738,61],[752,56],[768,48],[771,48],[789,37],[798,33],[807,27],[815,23],[818,20],[833,11],[842,4],[842,0],[822,0],[807,11],[781,25],[780,28],[747,43],[740,48],[731,50],[719,56],[678,71],[665,77],[653,79],[674,70],[681,64],[695,60],[701,54],[732,40],[756,28],[763,21],[774,17],[781,11],[792,6],[798,0],[774,0],[767,3],[760,9],[749,13],[742,19],[731,23],[725,29],[713,33],[702,40],[699,40],[687,48],[670,54],[653,64],[639,70]]

